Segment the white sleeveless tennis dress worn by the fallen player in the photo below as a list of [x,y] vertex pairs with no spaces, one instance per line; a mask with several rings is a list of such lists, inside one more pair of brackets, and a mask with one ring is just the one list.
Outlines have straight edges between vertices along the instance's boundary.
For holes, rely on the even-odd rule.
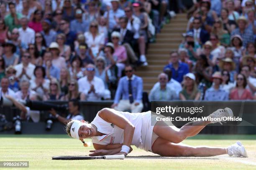
[[[151,147],[158,136],[154,134],[154,139],[152,139],[153,128],[156,121],[151,125],[151,111],[142,113],[120,112],[114,109],[111,109],[111,111],[129,120],[135,126],[131,145],[152,152]],[[92,137],[92,143],[100,145],[123,143],[124,130],[113,123],[103,120],[99,116],[99,112],[91,124],[97,127],[98,132],[107,134]]]

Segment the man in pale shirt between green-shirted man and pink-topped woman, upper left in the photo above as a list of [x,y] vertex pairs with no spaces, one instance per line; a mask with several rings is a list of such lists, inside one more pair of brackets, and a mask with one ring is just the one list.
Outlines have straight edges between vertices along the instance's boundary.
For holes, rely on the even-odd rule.
[[28,27],[28,19],[23,17],[20,19],[21,28],[19,28],[20,40],[26,45],[35,43],[35,31]]

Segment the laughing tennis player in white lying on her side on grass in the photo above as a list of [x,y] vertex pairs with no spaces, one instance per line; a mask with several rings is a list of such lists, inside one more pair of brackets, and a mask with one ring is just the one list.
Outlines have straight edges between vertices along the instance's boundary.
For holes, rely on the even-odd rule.
[[[218,109],[210,117],[233,117],[230,108]],[[91,123],[84,120],[71,120],[67,124],[67,133],[84,143],[84,138],[92,138],[95,150],[90,156],[127,155],[131,145],[161,156],[230,156],[248,157],[241,142],[227,148],[199,146],[192,147],[181,142],[187,137],[197,135],[206,125],[215,123],[197,121],[184,125],[182,128],[164,125],[155,121],[151,126],[151,112],[129,113],[109,108],[100,110]]]

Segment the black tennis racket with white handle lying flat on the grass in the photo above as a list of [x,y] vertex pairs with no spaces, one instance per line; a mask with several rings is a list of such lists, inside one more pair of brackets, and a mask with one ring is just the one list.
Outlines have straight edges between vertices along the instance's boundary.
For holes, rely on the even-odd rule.
[[105,156],[54,156],[52,160],[92,160],[92,159],[124,159],[124,155]]

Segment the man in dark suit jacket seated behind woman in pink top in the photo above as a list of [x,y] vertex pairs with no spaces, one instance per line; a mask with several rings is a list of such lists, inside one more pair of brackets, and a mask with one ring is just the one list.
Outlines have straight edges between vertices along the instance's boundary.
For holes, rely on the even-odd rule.
[[135,39],[133,38],[134,33],[131,30],[127,29],[128,18],[121,17],[119,18],[120,28],[115,28],[113,31],[120,32],[120,42],[123,46],[125,46],[127,56],[129,62],[134,63],[138,60],[132,46],[136,43]]

